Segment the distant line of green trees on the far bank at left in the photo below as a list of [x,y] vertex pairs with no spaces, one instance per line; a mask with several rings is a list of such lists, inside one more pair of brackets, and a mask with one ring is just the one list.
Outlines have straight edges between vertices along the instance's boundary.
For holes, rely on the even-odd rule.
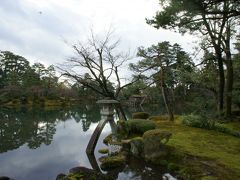
[[[59,80],[53,65],[30,62],[10,51],[0,52],[0,102],[3,104],[44,104],[46,100],[96,100],[98,94],[79,84]],[[88,75],[85,75],[87,78]],[[91,94],[87,96],[87,94]]]

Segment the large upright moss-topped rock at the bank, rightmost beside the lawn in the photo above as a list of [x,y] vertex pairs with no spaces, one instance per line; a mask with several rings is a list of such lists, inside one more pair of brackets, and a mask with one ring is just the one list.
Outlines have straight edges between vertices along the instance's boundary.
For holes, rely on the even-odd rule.
[[160,129],[150,130],[143,134],[145,160],[158,163],[169,154],[168,142],[172,133]]

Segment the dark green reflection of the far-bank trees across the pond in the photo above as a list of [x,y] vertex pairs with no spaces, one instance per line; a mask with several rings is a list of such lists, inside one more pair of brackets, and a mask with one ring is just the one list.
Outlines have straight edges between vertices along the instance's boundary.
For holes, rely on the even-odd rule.
[[[0,109],[0,153],[17,149],[25,143],[31,149],[38,148],[41,144],[51,144],[59,121],[73,118],[76,122],[81,121],[83,130],[87,131],[91,122],[100,120],[100,115],[94,115],[96,112],[99,113],[99,110],[84,107],[51,110]],[[85,119],[82,118],[84,114]]]

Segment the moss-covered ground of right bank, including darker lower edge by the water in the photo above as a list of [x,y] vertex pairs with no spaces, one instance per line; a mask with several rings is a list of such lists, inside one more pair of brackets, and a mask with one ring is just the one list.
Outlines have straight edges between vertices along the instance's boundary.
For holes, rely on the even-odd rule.
[[[178,163],[188,164],[193,171],[205,173],[199,176],[201,178],[240,179],[240,138],[213,130],[188,127],[178,118],[175,122],[156,116],[151,119],[156,122],[157,128],[173,134],[168,145],[179,155],[176,155]],[[240,130],[239,122],[224,126]]]

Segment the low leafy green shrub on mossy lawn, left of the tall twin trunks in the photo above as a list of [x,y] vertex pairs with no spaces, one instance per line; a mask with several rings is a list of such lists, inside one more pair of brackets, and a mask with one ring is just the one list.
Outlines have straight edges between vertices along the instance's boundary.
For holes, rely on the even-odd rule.
[[180,117],[182,119],[182,123],[191,126],[191,127],[198,127],[204,129],[214,129],[215,122],[213,120],[209,120],[205,117],[189,114]]

